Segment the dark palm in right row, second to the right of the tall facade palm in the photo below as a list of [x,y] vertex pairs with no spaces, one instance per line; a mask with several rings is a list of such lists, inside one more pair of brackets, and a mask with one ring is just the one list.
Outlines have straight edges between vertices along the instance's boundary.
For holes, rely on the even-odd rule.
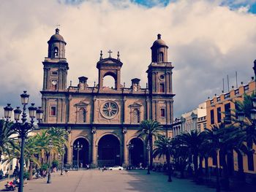
[[184,134],[178,135],[177,139],[180,140],[182,145],[187,146],[187,153],[192,156],[192,161],[195,169],[195,180],[198,176],[198,155],[200,153],[200,147],[203,142],[203,137],[197,130],[192,130],[190,132],[185,132]]

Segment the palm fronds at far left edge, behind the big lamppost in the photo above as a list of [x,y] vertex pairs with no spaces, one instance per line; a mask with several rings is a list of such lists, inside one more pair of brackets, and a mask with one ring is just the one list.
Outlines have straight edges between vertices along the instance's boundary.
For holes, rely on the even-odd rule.
[[12,123],[8,123],[4,120],[0,120],[0,162],[1,155],[7,153],[10,155],[10,151],[15,148],[15,130],[12,128]]

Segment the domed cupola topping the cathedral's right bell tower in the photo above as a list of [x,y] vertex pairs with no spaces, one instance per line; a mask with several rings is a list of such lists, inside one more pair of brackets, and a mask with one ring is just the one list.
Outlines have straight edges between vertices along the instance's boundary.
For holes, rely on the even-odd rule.
[[157,40],[154,41],[151,47],[152,63],[167,62],[167,49],[168,46],[161,39],[161,34],[158,34]]

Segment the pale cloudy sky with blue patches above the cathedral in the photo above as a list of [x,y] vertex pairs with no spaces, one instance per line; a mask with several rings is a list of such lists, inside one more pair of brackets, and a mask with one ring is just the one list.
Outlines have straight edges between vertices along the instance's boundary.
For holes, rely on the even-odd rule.
[[[227,74],[231,85],[248,82],[256,59],[256,0],[1,0],[0,106],[20,104],[27,90],[40,105],[42,61],[56,25],[67,42],[68,82],[97,81],[99,51],[119,50],[121,82],[141,79],[146,87],[150,47],[157,34],[169,46],[173,62],[175,117],[221,93]],[[0,109],[0,117],[3,110]]]

